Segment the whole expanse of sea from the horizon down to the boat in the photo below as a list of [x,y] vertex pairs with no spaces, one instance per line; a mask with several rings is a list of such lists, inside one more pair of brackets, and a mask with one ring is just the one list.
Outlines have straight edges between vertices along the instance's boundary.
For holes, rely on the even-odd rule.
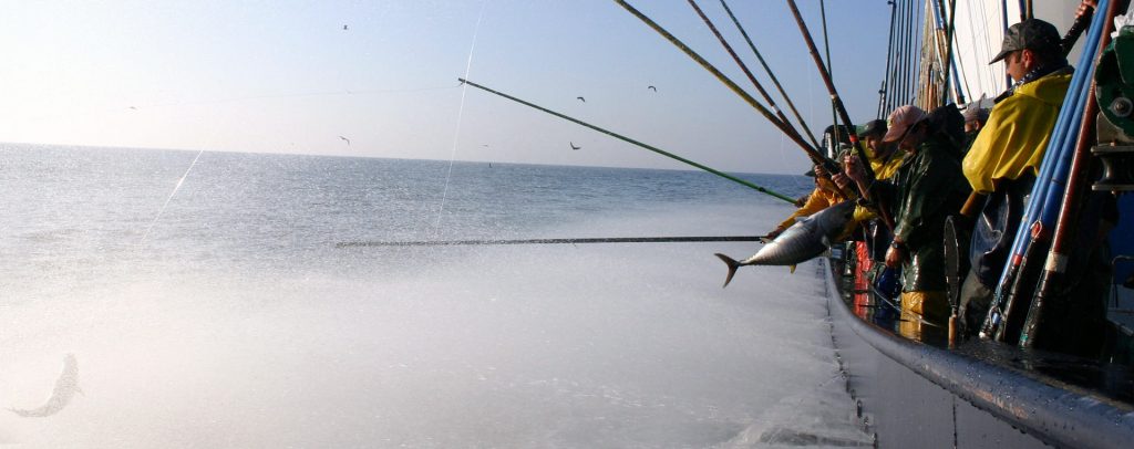
[[68,354],[79,389],[0,410],[0,443],[870,441],[816,262],[721,289],[712,254],[759,244],[336,246],[756,235],[778,200],[693,171],[204,152],[186,175],[196,156],[0,146],[0,407],[59,405]]

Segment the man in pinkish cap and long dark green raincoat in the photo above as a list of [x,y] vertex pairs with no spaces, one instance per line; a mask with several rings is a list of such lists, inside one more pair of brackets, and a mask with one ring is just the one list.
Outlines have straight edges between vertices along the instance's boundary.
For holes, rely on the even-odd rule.
[[903,269],[903,312],[913,314],[915,321],[940,324],[949,311],[941,252],[945,219],[959,210],[968,195],[955,156],[959,143],[915,105],[895,109],[889,121],[882,142],[907,153],[891,180],[868,185],[856,158],[846,159],[846,173],[869,200],[881,200],[895,219],[885,263]]

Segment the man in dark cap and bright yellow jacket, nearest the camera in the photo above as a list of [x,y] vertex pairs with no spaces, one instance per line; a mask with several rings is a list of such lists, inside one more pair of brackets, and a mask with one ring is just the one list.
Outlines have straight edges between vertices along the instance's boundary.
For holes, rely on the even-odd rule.
[[[1081,15],[1088,6],[1080,7]],[[988,313],[1073,71],[1059,32],[1034,18],[1008,28],[990,63],[1000,60],[1014,84],[998,99],[962,163],[973,192],[987,196],[972,232],[972,269],[960,288],[970,334]]]

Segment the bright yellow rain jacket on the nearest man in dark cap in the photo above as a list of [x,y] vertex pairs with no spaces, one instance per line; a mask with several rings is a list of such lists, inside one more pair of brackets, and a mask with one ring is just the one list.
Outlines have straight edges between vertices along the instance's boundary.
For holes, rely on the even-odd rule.
[[1069,74],[1052,74],[1024,84],[1004,99],[976,135],[962,162],[965,178],[980,193],[996,190],[997,179],[1017,179],[1025,170],[1040,173],[1043,151],[1063,105]]

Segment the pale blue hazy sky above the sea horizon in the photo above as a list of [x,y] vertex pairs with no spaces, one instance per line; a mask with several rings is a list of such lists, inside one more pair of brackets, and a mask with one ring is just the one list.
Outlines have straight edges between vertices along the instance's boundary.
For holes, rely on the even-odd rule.
[[[466,92],[457,78],[467,69],[480,84],[725,171],[807,166],[751,107],[609,0],[3,3],[0,142],[684,167]],[[686,1],[631,3],[753,91]],[[799,3],[822,45],[818,1]],[[836,84],[854,120],[872,119],[889,7],[827,3]],[[720,2],[699,5],[767,83]],[[812,128],[829,125],[826,88],[786,3],[729,7]]]

